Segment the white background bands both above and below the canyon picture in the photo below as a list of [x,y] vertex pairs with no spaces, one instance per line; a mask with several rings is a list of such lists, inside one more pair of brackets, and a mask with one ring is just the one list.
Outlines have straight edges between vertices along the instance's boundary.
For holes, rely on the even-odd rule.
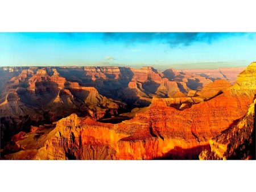
[[[255,17],[245,0],[0,1],[5,32],[255,32]],[[255,164],[0,161],[0,191],[254,191]]]

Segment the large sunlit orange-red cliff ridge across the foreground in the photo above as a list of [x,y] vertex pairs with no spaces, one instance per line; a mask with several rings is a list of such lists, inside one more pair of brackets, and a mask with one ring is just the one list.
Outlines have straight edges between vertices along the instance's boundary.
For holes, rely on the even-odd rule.
[[[234,103],[233,107],[236,106]],[[190,114],[183,111],[177,114],[177,110],[170,111],[170,108],[151,107],[147,112],[115,125],[71,115],[57,123],[34,158],[196,158],[208,148],[211,137],[228,128],[233,119],[237,119],[235,115],[241,116],[237,108],[228,114],[223,112],[226,107],[219,112],[211,110],[207,116],[209,107],[204,111],[194,109]]]

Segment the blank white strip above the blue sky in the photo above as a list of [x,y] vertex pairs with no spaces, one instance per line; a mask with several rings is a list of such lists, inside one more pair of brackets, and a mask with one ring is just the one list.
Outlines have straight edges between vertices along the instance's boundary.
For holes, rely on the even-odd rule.
[[9,0],[1,31],[255,32],[253,0]]

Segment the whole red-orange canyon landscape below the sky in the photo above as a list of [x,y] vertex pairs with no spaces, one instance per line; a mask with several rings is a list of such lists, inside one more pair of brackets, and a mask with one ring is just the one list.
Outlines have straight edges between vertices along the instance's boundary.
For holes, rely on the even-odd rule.
[[255,159],[247,68],[2,67],[2,160]]

